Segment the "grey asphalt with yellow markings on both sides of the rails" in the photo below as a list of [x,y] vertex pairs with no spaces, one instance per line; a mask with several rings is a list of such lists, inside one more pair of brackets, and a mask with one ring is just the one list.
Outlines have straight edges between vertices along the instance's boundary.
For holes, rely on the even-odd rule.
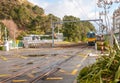
[[[71,58],[67,62],[59,66],[60,70],[48,75],[42,80],[39,80],[36,83],[75,83],[78,72],[85,66],[95,62],[98,57],[97,54],[100,52],[96,51],[93,47],[91,48],[79,48],[79,47],[70,47],[70,48],[38,48],[38,49],[16,49],[9,52],[0,51],[0,78],[3,78],[11,74],[10,70],[20,68],[20,65],[29,63],[31,60],[34,63],[41,63],[44,60],[51,60],[51,57],[57,60],[64,60],[71,55],[75,57]],[[34,57],[26,59],[27,55],[41,55],[41,57]],[[95,56],[88,56],[95,55]],[[35,62],[36,61],[36,62]],[[18,65],[13,65],[15,63]],[[48,65],[49,66],[49,65]],[[42,67],[44,68],[44,67]],[[20,69],[19,69],[20,70]],[[17,72],[15,70],[14,72]],[[12,73],[14,73],[12,72]],[[21,82],[19,82],[21,83]],[[28,82],[22,82],[28,83]]]

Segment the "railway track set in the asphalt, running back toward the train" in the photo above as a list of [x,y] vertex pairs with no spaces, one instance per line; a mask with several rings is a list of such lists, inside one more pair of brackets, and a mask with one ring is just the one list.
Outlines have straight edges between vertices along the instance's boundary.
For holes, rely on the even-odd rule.
[[[82,44],[82,45],[70,45],[70,46],[63,46],[63,47],[69,48],[69,47],[76,47],[76,46],[80,47],[81,50],[74,52],[73,55],[69,56],[67,59],[59,59],[59,61],[56,61],[53,59],[50,61],[44,61],[43,63],[36,64],[33,66],[25,67],[25,68],[23,68],[22,71],[17,72],[10,77],[4,78],[3,80],[0,81],[0,83],[16,83],[16,82],[19,82],[19,83],[21,83],[21,82],[22,83],[37,83],[39,80],[45,78],[46,76],[49,76],[50,74],[57,72],[60,69],[59,68],[60,65],[64,64],[68,60],[75,57],[77,54],[82,52],[84,50],[84,48],[89,48],[87,45],[84,45],[84,44]],[[39,61],[37,63],[39,63]],[[34,73],[33,76],[31,76],[31,78],[26,76],[28,73],[30,73],[32,71],[37,71],[37,72]],[[22,79],[22,78],[24,78],[24,79]]]

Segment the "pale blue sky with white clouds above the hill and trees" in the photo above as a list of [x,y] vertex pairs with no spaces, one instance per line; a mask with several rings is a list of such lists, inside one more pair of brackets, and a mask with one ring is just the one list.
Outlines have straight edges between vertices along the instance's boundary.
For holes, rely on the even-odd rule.
[[[28,0],[31,3],[42,7],[45,14],[53,14],[59,18],[65,15],[72,15],[81,20],[98,19],[99,12],[103,8],[97,6],[98,0]],[[108,0],[110,1],[110,0]],[[111,0],[115,1],[115,0]],[[109,9],[109,19],[112,18],[113,11],[118,8],[120,4],[113,4]],[[111,21],[112,22],[112,21]]]

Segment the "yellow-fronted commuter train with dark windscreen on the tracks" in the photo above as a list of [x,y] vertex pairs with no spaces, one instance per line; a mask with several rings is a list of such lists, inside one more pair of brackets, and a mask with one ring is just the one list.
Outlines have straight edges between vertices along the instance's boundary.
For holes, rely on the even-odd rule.
[[95,34],[95,32],[92,32],[92,31],[88,32],[87,33],[87,44],[88,45],[95,45],[95,43],[96,43],[96,34]]

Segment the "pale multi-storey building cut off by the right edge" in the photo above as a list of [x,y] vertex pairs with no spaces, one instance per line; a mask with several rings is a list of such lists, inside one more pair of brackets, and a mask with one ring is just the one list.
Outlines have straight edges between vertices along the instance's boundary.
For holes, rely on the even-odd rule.
[[113,32],[118,42],[120,42],[120,7],[113,13]]

